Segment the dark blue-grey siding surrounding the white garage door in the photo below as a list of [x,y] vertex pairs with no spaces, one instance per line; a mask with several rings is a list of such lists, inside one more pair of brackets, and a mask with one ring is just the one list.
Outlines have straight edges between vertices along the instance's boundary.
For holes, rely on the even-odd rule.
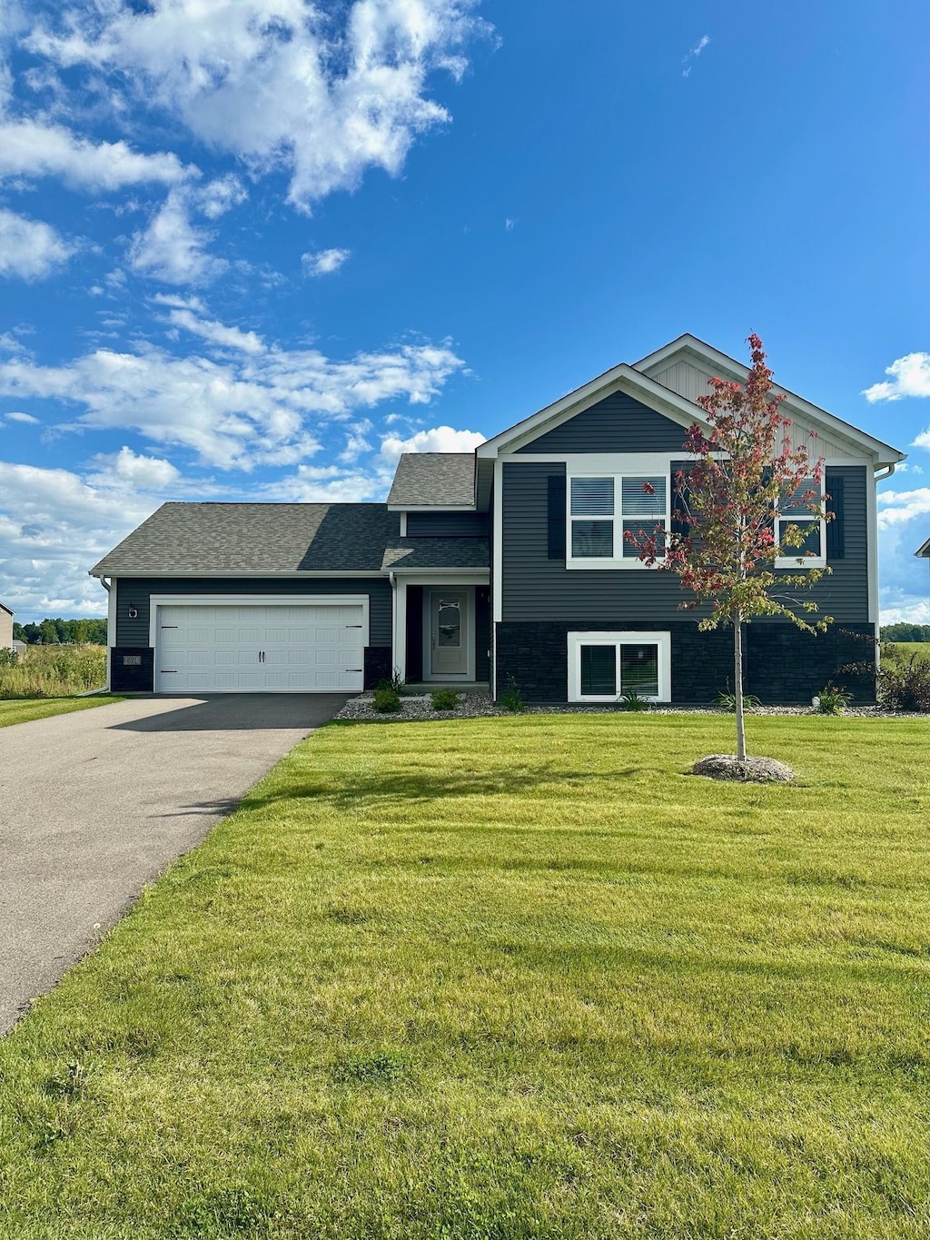
[[[153,594],[367,594],[370,646],[391,646],[391,584],[387,578],[309,577],[119,577],[117,590],[117,645],[149,645],[149,599]],[[139,615],[130,620],[129,605]]]

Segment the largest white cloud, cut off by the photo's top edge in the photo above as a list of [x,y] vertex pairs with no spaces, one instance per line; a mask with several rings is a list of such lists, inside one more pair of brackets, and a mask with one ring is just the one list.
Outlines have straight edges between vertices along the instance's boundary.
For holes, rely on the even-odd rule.
[[446,122],[436,69],[460,77],[486,30],[474,0],[172,0],[73,6],[26,46],[60,66],[109,69],[145,103],[257,171],[284,169],[301,210],[397,175],[414,138]]

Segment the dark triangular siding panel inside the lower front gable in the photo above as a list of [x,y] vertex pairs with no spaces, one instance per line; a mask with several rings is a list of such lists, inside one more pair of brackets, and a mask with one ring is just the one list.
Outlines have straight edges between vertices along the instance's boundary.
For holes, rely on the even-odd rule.
[[[697,409],[694,413],[697,414]],[[675,453],[686,428],[631,396],[614,392],[517,453]]]

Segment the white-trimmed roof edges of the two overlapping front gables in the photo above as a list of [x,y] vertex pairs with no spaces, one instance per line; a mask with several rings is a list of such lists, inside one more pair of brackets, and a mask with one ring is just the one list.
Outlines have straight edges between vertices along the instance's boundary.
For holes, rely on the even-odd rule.
[[[687,396],[661,382],[657,377],[673,365],[677,355],[688,353],[693,355],[696,360],[699,358],[713,373],[722,373],[724,377],[729,376],[744,381],[749,373],[748,366],[743,366],[735,358],[712,348],[697,336],[686,334],[641,358],[635,366],[621,362],[619,366],[604,371],[603,374],[546,405],[538,413],[531,414],[531,417],[480,444],[476,454],[479,459],[482,459],[495,458],[505,449],[513,451],[596,404],[613,392],[624,392],[682,427],[702,422],[701,408]],[[812,428],[826,432],[831,438],[839,439],[848,445],[849,455],[872,456],[875,466],[894,466],[898,461],[904,460],[906,454],[892,448],[890,444],[875,439],[864,430],[843,422],[842,418],[837,418],[794,392],[779,387],[779,384],[773,384],[773,387],[776,392],[785,393],[789,405],[799,410]]]

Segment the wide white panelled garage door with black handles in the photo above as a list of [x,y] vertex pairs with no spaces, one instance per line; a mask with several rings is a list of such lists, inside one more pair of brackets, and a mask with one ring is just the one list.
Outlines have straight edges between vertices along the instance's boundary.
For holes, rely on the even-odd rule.
[[361,691],[363,622],[360,603],[160,605],[155,691]]

